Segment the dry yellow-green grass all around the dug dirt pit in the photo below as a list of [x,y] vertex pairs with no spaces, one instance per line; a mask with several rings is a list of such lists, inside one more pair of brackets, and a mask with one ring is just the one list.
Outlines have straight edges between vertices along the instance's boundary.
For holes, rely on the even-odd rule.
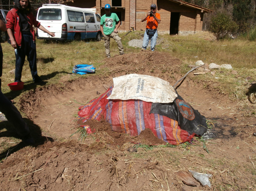
[[[143,31],[133,31],[130,33],[120,33],[122,43],[126,53],[139,52],[140,48],[128,46],[132,39],[142,39]],[[13,48],[8,43],[3,43],[3,75],[2,92],[12,95],[7,84],[14,81],[14,74],[9,73],[15,68],[15,55]],[[212,35],[188,35],[170,36],[168,34],[159,35],[156,46],[157,51],[170,53],[173,57],[179,58],[183,63],[182,71],[188,71],[188,64],[195,64],[197,60],[204,63],[215,63],[218,65],[231,64],[238,74],[224,75],[222,80],[216,79],[217,91],[229,94],[231,99],[246,99],[245,91],[251,82],[256,80],[256,42],[243,39],[216,41]],[[117,45],[111,39],[111,55],[118,54]],[[49,42],[37,40],[38,73],[42,79],[48,83],[56,83],[58,80],[72,73],[72,68],[76,64],[93,64],[96,69],[102,65],[105,58],[104,40],[97,41],[73,41],[73,42]],[[206,82],[208,75],[198,77]],[[222,75],[222,73],[218,73]],[[71,78],[85,77],[72,76]],[[219,77],[216,75],[216,77]],[[247,77],[247,79],[246,79]],[[22,81],[25,85],[34,86],[32,83],[29,65],[26,60]],[[247,85],[245,84],[247,83]],[[219,85],[220,84],[220,85]]]

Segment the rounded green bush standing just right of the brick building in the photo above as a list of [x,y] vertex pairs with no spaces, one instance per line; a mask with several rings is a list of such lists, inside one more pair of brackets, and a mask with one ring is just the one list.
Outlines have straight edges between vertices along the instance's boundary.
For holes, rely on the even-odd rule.
[[238,29],[238,25],[228,14],[218,13],[212,17],[211,32],[215,33],[217,40],[227,37]]

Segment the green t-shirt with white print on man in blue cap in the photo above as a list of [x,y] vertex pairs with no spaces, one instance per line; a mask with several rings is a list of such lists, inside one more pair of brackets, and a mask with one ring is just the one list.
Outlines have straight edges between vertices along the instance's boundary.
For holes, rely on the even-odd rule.
[[103,15],[100,19],[100,24],[103,25],[104,34],[109,35],[113,33],[116,27],[116,22],[118,21],[119,21],[119,18],[115,13],[111,13],[108,16],[106,16],[106,14]]

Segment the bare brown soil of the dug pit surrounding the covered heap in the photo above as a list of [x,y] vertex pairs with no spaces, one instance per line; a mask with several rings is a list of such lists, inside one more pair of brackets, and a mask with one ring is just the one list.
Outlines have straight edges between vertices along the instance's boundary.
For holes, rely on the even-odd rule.
[[[37,141],[35,146],[13,145],[0,163],[1,190],[256,190],[255,118],[240,114],[240,104],[204,89],[190,73],[177,92],[201,115],[213,121],[214,138],[207,143],[164,147],[166,143],[144,131],[138,137],[112,132],[108,123],[88,121],[94,137],[77,141],[78,107],[99,97],[112,78],[138,73],[174,85],[182,75],[181,61],[170,54],[143,51],[104,60],[102,75],[37,88],[20,99],[20,109]],[[188,69],[190,70],[190,69]],[[97,73],[97,71],[96,71]],[[72,75],[72,74],[70,74]],[[209,86],[210,87],[210,86]],[[255,107],[255,105],[250,105]],[[243,111],[244,114],[244,111]],[[137,152],[127,149],[140,144]],[[146,149],[143,145],[162,145]],[[177,171],[209,173],[208,186],[186,187]]]

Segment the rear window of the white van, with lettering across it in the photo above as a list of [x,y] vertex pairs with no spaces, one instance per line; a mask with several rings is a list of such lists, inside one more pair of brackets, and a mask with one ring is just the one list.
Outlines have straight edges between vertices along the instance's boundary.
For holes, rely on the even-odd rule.
[[41,8],[38,13],[38,20],[61,20],[61,9]]

